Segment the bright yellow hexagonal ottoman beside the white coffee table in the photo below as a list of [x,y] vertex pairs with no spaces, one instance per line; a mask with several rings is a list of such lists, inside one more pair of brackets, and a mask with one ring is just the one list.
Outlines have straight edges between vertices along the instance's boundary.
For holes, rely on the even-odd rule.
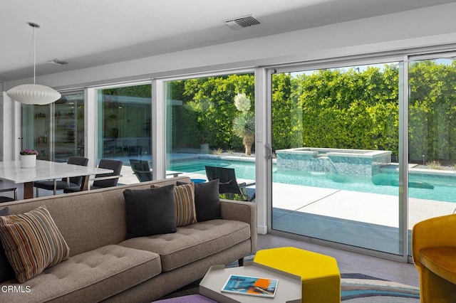
[[341,274],[333,257],[299,248],[271,248],[259,250],[254,262],[301,276],[302,302],[341,302]]

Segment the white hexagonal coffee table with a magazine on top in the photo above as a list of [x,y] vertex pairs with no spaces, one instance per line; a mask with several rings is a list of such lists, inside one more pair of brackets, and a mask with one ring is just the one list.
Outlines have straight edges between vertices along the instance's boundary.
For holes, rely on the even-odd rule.
[[[222,292],[221,289],[229,275],[278,279],[276,295],[274,298],[266,298]],[[255,262],[245,262],[242,267],[231,268],[225,268],[224,265],[216,265],[209,268],[199,283],[199,294],[221,303],[299,303],[301,302],[301,277]]]

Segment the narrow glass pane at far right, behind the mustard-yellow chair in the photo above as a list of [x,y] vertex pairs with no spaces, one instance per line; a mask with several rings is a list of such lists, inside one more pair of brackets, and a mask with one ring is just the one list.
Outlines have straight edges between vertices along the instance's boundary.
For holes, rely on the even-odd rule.
[[449,215],[456,208],[456,61],[411,62],[409,78],[411,229],[420,220]]

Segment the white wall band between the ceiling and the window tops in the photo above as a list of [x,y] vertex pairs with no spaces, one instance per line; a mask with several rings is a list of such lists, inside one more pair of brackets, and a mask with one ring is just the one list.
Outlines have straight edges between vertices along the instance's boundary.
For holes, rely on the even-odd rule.
[[[194,48],[139,60],[45,75],[37,82],[56,88],[106,81],[157,78],[302,60],[388,52],[456,43],[456,4],[292,31],[273,36]],[[24,80],[5,83],[5,90]]]

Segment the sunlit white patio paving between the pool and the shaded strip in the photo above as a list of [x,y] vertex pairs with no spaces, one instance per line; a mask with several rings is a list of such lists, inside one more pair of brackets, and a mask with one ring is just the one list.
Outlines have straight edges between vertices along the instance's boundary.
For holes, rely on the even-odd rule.
[[[398,196],[275,183],[274,208],[363,223],[399,226]],[[426,218],[453,213],[455,203],[409,198],[408,227]]]

